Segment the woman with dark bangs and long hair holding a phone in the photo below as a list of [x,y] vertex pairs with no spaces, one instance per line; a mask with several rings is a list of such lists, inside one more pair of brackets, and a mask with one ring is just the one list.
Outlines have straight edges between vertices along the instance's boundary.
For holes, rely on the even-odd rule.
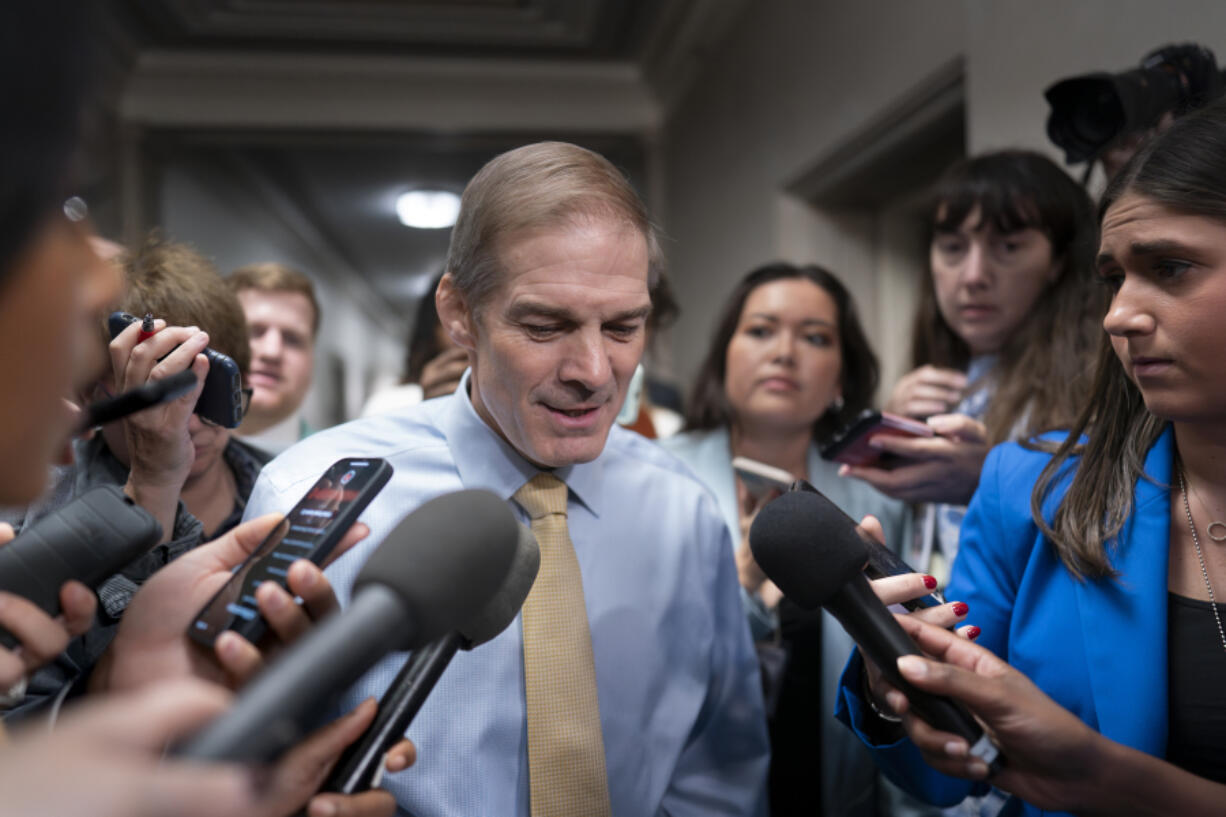
[[840,474],[923,503],[902,552],[944,586],[988,449],[1067,428],[1076,416],[1106,290],[1090,275],[1090,199],[1045,156],[1000,151],[964,159],[942,175],[931,200],[916,368],[885,410],[927,421],[935,435],[878,437],[873,444],[900,464]]

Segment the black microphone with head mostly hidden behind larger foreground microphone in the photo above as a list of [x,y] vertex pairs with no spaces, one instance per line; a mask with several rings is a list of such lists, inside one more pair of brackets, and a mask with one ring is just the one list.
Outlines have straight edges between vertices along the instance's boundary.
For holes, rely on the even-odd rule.
[[471,650],[506,629],[528,597],[539,567],[536,536],[520,525],[515,562],[503,588],[470,621],[408,656],[379,700],[374,721],[345,750],[321,791],[353,794],[379,785],[384,754],[408,729],[456,650]]

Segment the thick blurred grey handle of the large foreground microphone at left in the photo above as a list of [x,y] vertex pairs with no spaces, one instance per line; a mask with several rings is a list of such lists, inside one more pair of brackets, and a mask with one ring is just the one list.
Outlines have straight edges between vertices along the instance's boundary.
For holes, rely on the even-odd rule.
[[363,588],[348,607],[303,635],[174,754],[262,763],[302,740],[329,700],[413,638],[417,626],[394,590]]

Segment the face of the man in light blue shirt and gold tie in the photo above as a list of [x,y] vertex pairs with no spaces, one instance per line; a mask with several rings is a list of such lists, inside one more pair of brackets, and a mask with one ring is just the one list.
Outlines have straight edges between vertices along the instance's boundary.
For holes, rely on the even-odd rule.
[[646,239],[619,220],[584,218],[511,236],[499,259],[501,285],[452,331],[472,352],[473,407],[539,466],[588,462],[642,356]]

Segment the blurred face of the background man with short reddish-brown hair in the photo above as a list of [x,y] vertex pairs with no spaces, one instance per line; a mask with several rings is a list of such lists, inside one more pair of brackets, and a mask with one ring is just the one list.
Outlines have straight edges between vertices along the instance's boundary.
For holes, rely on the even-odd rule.
[[315,367],[314,312],[300,292],[242,290],[251,330],[251,408],[244,432],[262,431],[302,406]]

